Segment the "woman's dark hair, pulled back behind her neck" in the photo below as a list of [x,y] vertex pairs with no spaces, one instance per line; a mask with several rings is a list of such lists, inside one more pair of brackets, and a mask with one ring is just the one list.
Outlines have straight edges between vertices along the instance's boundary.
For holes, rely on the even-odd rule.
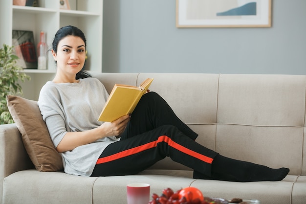
[[[60,28],[54,36],[52,49],[55,53],[57,52],[57,46],[59,42],[68,35],[80,37],[84,41],[86,47],[86,38],[83,31],[73,25],[67,25],[65,27]],[[84,79],[87,77],[91,77],[91,75],[87,73],[87,71],[85,71],[83,67],[82,70],[76,74],[75,79]]]

